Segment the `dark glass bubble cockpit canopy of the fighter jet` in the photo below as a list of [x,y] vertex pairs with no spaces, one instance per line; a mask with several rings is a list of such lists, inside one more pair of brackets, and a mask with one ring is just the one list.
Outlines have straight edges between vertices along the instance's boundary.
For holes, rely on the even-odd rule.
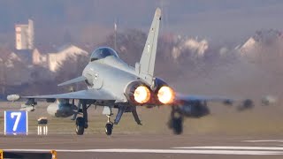
[[96,49],[90,56],[90,61],[95,61],[105,57],[114,56],[118,57],[117,52],[109,47],[101,47]]

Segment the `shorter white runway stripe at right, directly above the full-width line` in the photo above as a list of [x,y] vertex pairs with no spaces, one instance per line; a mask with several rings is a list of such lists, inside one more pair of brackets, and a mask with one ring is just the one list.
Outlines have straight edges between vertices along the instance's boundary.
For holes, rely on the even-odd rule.
[[[211,147],[177,147],[174,149],[229,149],[229,150],[283,150],[281,147],[226,147],[226,146],[211,146]],[[282,151],[283,152],[283,151]]]

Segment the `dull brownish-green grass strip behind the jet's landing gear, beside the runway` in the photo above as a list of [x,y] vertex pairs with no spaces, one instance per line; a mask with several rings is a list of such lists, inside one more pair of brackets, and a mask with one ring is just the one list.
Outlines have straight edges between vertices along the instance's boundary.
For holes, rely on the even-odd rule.
[[[4,110],[19,110],[22,102],[0,102],[0,133],[4,132]],[[37,133],[37,118],[49,118],[49,133],[74,134],[74,121],[71,117],[50,117],[46,112],[48,103],[40,103],[34,112],[29,112],[29,133]],[[210,105],[211,115],[203,118],[187,118],[184,121],[184,134],[223,134],[223,135],[280,135],[283,134],[282,109],[279,106],[262,107],[245,112],[222,105]],[[136,125],[131,113],[125,113],[119,125],[114,126],[113,134],[172,134],[167,122],[170,107],[146,109],[138,108],[142,125]],[[107,117],[102,109],[89,109],[88,130],[85,133],[104,133]],[[116,110],[114,111],[114,115]],[[111,118],[113,121],[114,116]]]

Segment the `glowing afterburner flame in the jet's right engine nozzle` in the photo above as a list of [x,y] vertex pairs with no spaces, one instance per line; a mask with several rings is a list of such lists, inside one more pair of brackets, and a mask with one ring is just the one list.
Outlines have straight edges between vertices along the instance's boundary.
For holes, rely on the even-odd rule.
[[175,93],[171,87],[160,87],[157,93],[159,102],[169,104],[174,101]]

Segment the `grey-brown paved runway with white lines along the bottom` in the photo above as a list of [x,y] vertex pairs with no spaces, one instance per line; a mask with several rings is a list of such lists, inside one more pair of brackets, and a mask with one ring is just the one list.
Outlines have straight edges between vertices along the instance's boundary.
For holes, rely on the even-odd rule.
[[1,136],[6,151],[47,152],[58,158],[282,158],[283,137],[103,134]]

